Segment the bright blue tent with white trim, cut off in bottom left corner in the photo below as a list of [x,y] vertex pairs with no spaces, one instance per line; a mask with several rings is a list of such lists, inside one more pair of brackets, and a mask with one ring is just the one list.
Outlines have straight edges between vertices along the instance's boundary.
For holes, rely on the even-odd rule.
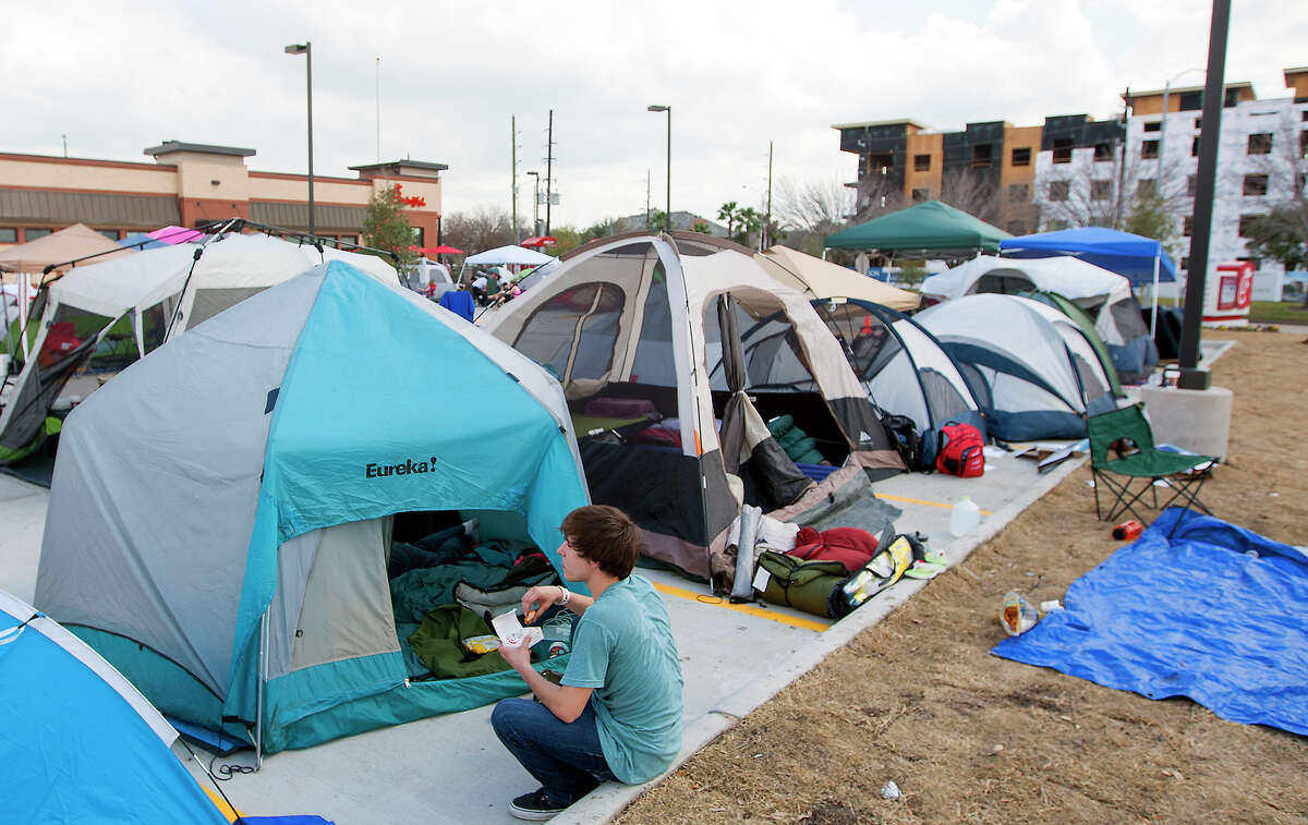
[[177,731],[94,650],[0,591],[7,822],[228,818],[169,749]]

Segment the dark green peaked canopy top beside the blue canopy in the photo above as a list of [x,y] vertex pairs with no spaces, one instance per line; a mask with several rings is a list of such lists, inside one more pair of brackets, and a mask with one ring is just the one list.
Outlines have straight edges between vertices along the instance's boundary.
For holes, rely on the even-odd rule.
[[827,247],[923,252],[926,258],[940,258],[942,254],[950,252],[957,255],[976,250],[993,252],[999,248],[1002,239],[1011,237],[998,226],[991,226],[961,209],[929,200],[828,235]]

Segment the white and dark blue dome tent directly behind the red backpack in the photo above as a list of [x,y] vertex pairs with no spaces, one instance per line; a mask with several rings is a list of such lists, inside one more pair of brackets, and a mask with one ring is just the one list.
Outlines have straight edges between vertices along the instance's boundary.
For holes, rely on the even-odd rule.
[[913,420],[926,464],[935,462],[944,424],[971,424],[986,435],[985,416],[961,369],[916,320],[865,301],[814,301],[814,307],[845,348],[872,403]]

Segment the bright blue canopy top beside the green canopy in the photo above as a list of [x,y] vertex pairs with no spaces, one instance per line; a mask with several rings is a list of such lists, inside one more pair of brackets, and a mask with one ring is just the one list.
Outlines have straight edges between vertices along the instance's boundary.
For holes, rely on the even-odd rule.
[[1152,238],[1142,238],[1129,231],[1103,226],[1061,229],[999,242],[1005,258],[1053,258],[1074,255],[1096,267],[1116,272],[1130,280],[1131,286],[1154,282],[1154,259],[1159,259],[1158,280],[1176,280],[1176,264],[1163,244]]

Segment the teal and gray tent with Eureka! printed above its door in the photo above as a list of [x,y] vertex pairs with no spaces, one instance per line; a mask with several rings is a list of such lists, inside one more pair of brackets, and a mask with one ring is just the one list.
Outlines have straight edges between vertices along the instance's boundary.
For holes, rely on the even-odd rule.
[[557,567],[586,501],[553,379],[332,261],[73,409],[37,604],[165,713],[305,747],[525,690],[511,672],[407,684],[392,516],[493,511]]

